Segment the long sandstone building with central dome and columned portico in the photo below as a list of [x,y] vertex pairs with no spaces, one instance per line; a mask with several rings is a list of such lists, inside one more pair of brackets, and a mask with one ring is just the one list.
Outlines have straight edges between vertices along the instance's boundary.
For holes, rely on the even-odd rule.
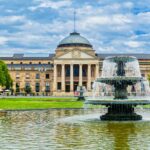
[[[31,87],[34,95],[67,96],[74,95],[78,86],[90,94],[93,81],[101,75],[103,60],[113,55],[120,54],[95,53],[86,38],[73,32],[60,41],[55,54],[47,57],[14,54],[0,59],[8,65],[14,92],[25,93],[25,87]],[[150,54],[122,55],[137,57],[142,76],[150,73]]]

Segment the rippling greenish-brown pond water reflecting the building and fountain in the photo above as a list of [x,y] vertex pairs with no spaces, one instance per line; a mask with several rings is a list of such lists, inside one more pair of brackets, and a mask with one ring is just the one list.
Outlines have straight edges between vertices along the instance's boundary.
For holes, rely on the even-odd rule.
[[8,112],[0,135],[1,149],[150,149],[150,121],[102,122],[99,110]]

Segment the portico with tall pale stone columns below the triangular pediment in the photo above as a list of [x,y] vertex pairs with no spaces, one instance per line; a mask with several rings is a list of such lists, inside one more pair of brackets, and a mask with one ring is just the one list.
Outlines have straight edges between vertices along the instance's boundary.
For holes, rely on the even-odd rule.
[[[92,82],[97,76],[98,65],[95,64],[55,64],[55,92],[74,93],[77,86],[84,86],[91,91]],[[55,72],[56,71],[56,72]]]

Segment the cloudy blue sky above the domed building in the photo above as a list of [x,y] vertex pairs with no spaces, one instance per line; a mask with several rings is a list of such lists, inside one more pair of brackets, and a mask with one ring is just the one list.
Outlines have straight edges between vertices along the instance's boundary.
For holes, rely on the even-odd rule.
[[150,53],[148,0],[0,0],[0,55],[54,53],[74,9],[97,53]]

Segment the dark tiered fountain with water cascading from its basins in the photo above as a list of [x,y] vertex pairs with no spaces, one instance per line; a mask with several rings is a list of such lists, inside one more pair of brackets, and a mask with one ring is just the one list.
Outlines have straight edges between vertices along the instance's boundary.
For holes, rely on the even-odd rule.
[[102,76],[93,84],[93,97],[87,98],[85,104],[106,106],[107,113],[100,116],[101,120],[141,120],[135,107],[150,104],[147,85],[135,57],[107,57]]

